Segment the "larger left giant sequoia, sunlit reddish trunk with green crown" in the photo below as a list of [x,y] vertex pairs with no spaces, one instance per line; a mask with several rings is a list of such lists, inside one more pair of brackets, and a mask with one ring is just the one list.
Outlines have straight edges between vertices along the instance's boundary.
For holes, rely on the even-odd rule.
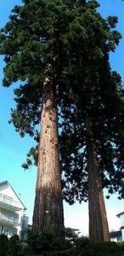
[[41,123],[33,215],[36,231],[63,225],[56,99],[60,97],[59,80],[70,51],[65,36],[72,36],[76,10],[70,1],[68,5],[59,1],[23,2],[23,6],[14,7],[1,31],[1,53],[7,64],[3,85],[23,81],[14,90],[17,108],[12,118],[16,131],[38,140],[35,125]]

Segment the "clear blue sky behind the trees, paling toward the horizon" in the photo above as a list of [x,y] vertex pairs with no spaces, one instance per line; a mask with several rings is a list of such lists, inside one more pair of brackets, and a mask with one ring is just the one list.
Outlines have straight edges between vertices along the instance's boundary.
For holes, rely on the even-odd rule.
[[[121,74],[124,81],[124,2],[122,0],[99,0],[101,4],[99,11],[104,17],[117,15],[119,23],[117,29],[122,34],[121,43],[115,53],[110,54],[112,69]],[[14,5],[22,4],[20,0],[0,0],[0,27],[8,21],[11,9]],[[0,85],[3,79],[3,61],[0,56]],[[26,136],[21,138],[14,131],[14,126],[8,124],[10,119],[10,108],[14,108],[14,87],[3,88],[0,86],[0,182],[8,180],[15,192],[27,207],[27,216],[30,217],[30,224],[35,198],[35,186],[37,169],[32,167],[29,171],[24,171],[21,164],[25,161],[25,155],[34,144],[33,140]],[[110,230],[120,228],[119,219],[116,214],[124,211],[124,201],[117,200],[117,195],[113,195],[110,200],[105,200],[107,216]],[[82,205],[76,203],[74,206],[65,204],[65,226],[78,228],[83,235],[87,235],[88,211],[87,203]]]

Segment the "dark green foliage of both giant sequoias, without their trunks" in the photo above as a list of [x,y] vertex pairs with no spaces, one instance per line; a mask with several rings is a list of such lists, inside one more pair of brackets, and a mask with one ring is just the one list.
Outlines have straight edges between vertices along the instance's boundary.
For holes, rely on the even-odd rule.
[[[65,200],[87,201],[86,113],[93,122],[103,186],[109,194],[119,191],[123,197],[123,91],[109,62],[110,50],[115,51],[121,39],[115,29],[117,17],[103,19],[97,1],[23,3],[14,7],[0,34],[6,63],[3,85],[23,81],[14,90],[16,108],[10,122],[21,137],[27,133],[38,142],[42,84],[46,76],[52,78],[60,109]],[[25,169],[37,164],[35,149],[27,155]]]

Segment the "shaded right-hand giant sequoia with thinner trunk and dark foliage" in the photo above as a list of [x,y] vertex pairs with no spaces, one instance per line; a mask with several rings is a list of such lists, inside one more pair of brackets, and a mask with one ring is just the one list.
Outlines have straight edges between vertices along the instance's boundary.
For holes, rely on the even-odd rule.
[[[111,26],[116,26],[116,17],[111,19]],[[117,36],[115,43],[118,44],[120,36],[115,32],[114,36]],[[102,188],[106,187],[110,194],[118,192],[124,196],[123,88],[120,76],[110,69],[110,45],[104,43],[104,57],[87,65],[87,76],[81,73],[79,80],[73,77],[73,81],[78,81],[78,92],[72,88],[76,106],[67,121],[63,116],[65,125],[61,142],[65,140],[65,143],[60,143],[65,169],[65,199],[86,201],[88,196],[89,236],[98,241],[109,240]],[[112,50],[116,44],[111,45]],[[67,110],[65,106],[65,112]],[[71,191],[69,196],[68,189]]]

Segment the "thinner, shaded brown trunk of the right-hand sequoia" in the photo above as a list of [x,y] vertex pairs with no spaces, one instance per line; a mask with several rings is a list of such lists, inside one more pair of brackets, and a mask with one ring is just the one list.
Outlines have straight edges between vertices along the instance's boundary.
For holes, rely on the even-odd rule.
[[86,129],[89,239],[93,241],[110,241],[97,148],[93,140],[91,119],[88,115],[86,118]]

